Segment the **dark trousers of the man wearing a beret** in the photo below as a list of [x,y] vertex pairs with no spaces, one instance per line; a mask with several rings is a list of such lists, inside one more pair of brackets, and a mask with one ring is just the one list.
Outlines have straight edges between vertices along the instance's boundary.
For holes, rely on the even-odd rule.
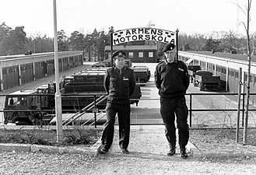
[[160,113],[165,124],[165,135],[170,145],[170,149],[176,148],[176,127],[177,121],[179,145],[181,150],[188,144],[188,107],[184,97],[179,99],[160,98]]

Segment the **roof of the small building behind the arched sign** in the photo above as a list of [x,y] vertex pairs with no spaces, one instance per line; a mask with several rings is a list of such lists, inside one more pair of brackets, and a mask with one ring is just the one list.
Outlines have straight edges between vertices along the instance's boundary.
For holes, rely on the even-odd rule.
[[[110,46],[105,46],[105,50],[110,51]],[[113,46],[113,50],[157,50],[156,45],[117,45]]]

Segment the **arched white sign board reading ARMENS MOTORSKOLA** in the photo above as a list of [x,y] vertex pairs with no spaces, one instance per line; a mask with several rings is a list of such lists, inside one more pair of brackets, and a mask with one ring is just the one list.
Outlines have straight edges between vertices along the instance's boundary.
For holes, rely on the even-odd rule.
[[176,45],[176,35],[176,32],[149,27],[118,30],[117,32],[113,33],[113,46],[137,40],[153,40],[166,44],[173,43],[174,45]]

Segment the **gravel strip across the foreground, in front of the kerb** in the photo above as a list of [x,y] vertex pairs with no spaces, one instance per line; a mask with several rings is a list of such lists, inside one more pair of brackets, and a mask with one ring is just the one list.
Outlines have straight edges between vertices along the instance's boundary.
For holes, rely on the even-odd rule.
[[29,152],[0,153],[0,174],[253,174],[255,163],[211,163],[153,153],[91,157]]

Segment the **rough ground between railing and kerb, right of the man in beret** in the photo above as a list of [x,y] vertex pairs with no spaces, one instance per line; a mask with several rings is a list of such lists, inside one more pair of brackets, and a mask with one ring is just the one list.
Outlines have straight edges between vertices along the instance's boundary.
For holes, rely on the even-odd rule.
[[202,152],[252,152],[256,154],[255,128],[247,129],[247,143],[244,141],[244,129],[240,129],[238,143],[236,129],[194,129],[190,141]]

